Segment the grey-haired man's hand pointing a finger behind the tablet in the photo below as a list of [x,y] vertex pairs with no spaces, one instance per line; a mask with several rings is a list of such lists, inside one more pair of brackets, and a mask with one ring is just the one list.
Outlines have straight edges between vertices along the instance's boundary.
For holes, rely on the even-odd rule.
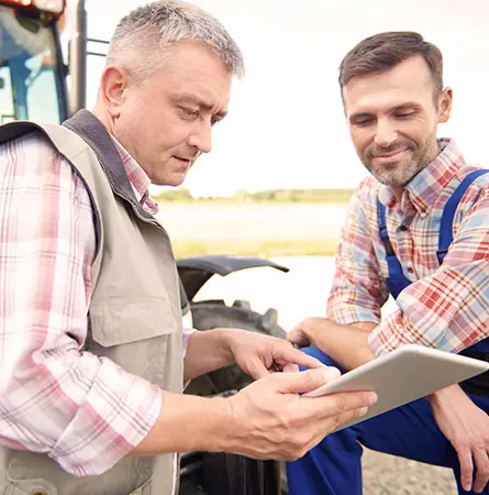
[[325,367],[284,339],[238,329],[227,329],[225,339],[233,361],[255,380],[276,371],[297,372],[299,365]]

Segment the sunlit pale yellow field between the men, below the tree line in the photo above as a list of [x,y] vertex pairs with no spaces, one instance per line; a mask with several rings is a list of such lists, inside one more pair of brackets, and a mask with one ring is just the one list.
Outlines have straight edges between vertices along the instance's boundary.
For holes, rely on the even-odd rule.
[[158,219],[178,257],[334,255],[346,205],[162,202]]

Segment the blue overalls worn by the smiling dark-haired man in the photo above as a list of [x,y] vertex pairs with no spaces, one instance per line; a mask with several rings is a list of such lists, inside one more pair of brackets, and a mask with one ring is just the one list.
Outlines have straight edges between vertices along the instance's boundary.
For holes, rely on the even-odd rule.
[[[469,174],[447,201],[440,226],[438,262],[453,241],[453,217],[464,193],[481,174],[489,170],[475,170]],[[392,297],[409,284],[401,264],[393,253],[386,228],[386,209],[378,202],[379,230],[387,251],[389,277],[386,279]],[[315,348],[303,349],[324,364],[336,366],[323,352]],[[489,338],[477,342],[460,354],[487,360]],[[464,389],[471,400],[489,414],[489,378],[473,378],[464,383]],[[481,391],[482,387],[482,391]],[[477,395],[473,394],[477,392]],[[484,395],[481,395],[481,392]],[[452,468],[459,494],[465,492],[459,484],[459,463],[457,454],[448,440],[440,431],[433,418],[430,403],[424,398],[414,400],[375,418],[345,428],[327,436],[318,447],[296,462],[287,463],[290,495],[362,495],[362,444],[368,449],[390,453],[432,465]],[[399,487],[401,490],[402,487]]]

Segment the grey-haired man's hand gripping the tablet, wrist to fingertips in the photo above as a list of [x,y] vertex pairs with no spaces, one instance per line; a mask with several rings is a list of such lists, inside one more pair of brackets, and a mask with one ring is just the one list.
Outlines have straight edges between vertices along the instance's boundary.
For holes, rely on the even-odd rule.
[[376,400],[371,392],[299,395],[338,376],[332,367],[275,373],[223,399],[231,405],[232,419],[221,449],[255,459],[301,458],[336,426],[366,414]]

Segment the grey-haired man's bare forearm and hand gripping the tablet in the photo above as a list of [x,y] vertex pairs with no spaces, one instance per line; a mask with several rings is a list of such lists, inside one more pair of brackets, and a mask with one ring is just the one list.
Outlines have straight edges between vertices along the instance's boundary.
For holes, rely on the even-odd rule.
[[325,366],[271,373],[227,398],[164,392],[156,424],[131,455],[199,450],[299,459],[337,425],[364,415],[376,400],[373,392],[301,396],[338,376],[337,370]]

